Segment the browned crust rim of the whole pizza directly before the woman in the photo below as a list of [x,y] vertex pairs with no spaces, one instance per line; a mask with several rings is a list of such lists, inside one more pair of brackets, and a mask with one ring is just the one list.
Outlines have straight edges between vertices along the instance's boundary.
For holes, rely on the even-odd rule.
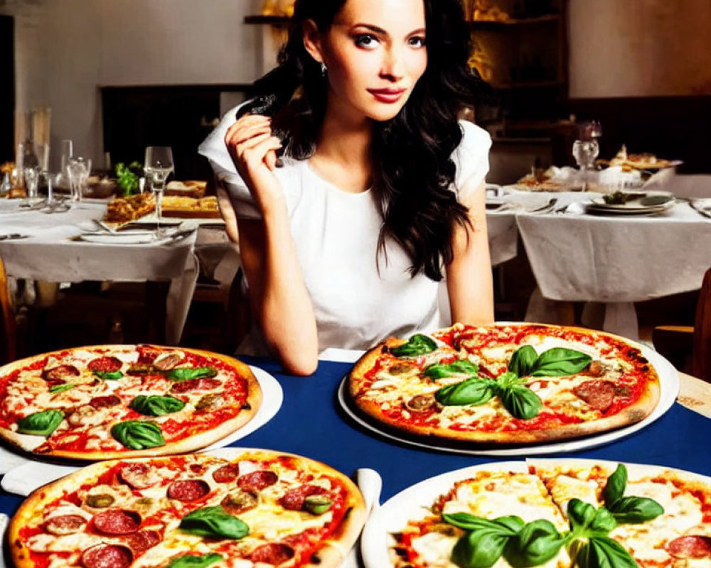
[[[496,328],[497,326],[492,326]],[[518,327],[517,324],[512,324],[512,327]],[[548,324],[521,324],[520,327],[528,329],[560,329],[558,326]],[[461,324],[456,324],[453,328],[444,329],[440,332],[435,332],[434,337],[442,337],[451,329],[464,329]],[[590,329],[581,327],[566,327],[577,334],[601,335],[602,332],[593,332]],[[656,408],[659,402],[661,388],[659,378],[656,371],[652,368],[648,361],[643,360],[635,346],[629,344],[629,341],[612,334],[602,334],[604,337],[609,337],[619,342],[629,345],[637,354],[631,351],[628,356],[631,360],[637,360],[640,364],[648,365],[648,380],[640,397],[631,405],[627,406],[619,413],[607,417],[600,417],[589,422],[571,423],[556,427],[547,427],[540,430],[507,430],[507,431],[486,431],[486,430],[466,430],[458,431],[451,430],[447,427],[438,427],[433,425],[417,425],[400,420],[397,417],[392,417],[383,412],[381,403],[375,400],[366,398],[362,394],[364,389],[367,389],[368,373],[378,368],[380,360],[387,353],[387,349],[403,344],[405,339],[390,338],[385,342],[375,346],[367,351],[363,356],[355,362],[351,373],[347,379],[347,400],[349,408],[351,408],[360,417],[370,422],[375,422],[375,425],[385,430],[393,432],[396,435],[405,435],[423,444],[434,444],[437,446],[452,447],[471,447],[471,444],[492,444],[494,446],[507,445],[515,446],[519,444],[543,444],[547,442],[556,442],[563,439],[573,439],[596,435],[602,432],[609,432],[618,428],[632,425],[640,422],[645,417],[650,415]],[[459,347],[459,346],[458,346]],[[642,361],[644,361],[642,363]],[[591,377],[592,378],[592,377]]]

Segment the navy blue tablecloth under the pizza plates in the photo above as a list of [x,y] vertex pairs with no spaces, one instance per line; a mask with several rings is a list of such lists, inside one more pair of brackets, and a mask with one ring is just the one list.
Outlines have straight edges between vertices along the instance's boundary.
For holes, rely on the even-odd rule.
[[[245,359],[272,373],[284,389],[279,413],[236,446],[261,447],[311,457],[351,475],[360,467],[383,477],[382,500],[431,476],[488,461],[522,457],[479,457],[432,452],[398,444],[355,425],[338,403],[337,390],[351,364],[321,361],[314,376],[282,374],[279,365],[264,359]],[[711,420],[675,403],[659,420],[616,442],[574,454],[546,457],[610,459],[673,466],[711,475]],[[21,497],[0,493],[0,511],[12,514]]]

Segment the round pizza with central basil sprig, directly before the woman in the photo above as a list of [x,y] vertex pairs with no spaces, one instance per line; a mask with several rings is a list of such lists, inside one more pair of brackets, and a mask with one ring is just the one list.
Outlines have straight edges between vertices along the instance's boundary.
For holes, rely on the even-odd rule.
[[530,444],[630,425],[660,383],[639,346],[545,324],[455,324],[390,338],[346,379],[346,400],[385,430],[424,442]]

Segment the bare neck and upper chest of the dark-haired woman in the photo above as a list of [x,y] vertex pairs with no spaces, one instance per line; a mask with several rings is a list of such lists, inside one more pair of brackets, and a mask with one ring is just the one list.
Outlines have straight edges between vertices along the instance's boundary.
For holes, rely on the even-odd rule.
[[370,187],[370,138],[373,123],[365,116],[346,119],[326,110],[316,151],[309,160],[321,178],[349,193]]

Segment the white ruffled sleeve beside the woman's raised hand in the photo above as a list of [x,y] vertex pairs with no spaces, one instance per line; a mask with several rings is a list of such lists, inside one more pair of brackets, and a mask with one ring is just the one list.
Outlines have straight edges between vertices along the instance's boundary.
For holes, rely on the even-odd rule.
[[198,153],[201,153],[201,155],[204,155],[205,158],[208,158],[210,161],[210,165],[215,173],[215,178],[225,187],[230,195],[232,207],[235,208],[237,217],[260,219],[262,214],[249,188],[240,177],[240,174],[237,173],[235,163],[232,162],[227,145],[225,144],[225,133],[227,133],[232,124],[235,124],[237,111],[242,104],[237,105],[237,107],[225,113],[225,116],[223,116],[217,128],[215,128],[198,147]]

